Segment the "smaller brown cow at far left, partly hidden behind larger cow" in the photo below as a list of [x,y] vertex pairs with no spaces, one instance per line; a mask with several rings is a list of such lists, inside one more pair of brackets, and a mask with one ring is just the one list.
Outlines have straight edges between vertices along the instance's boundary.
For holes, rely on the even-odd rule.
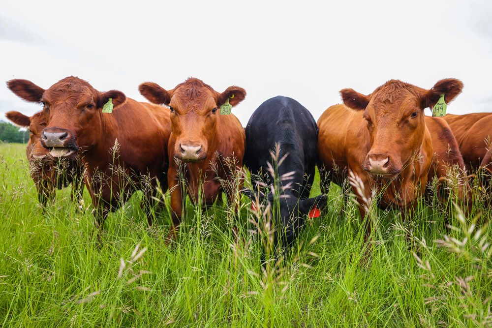
[[44,207],[53,200],[55,188],[62,189],[72,183],[72,199],[82,199],[84,184],[82,174],[84,165],[78,156],[67,158],[53,158],[49,150],[41,145],[41,131],[46,127],[46,119],[42,112],[29,117],[19,112],[5,114],[15,124],[29,128],[29,142],[26,148],[26,157],[29,162],[29,174],[37,189],[39,203]]

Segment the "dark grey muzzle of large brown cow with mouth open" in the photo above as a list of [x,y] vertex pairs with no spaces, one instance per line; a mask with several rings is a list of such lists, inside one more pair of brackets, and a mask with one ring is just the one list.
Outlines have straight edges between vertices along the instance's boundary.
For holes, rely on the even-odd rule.
[[49,149],[53,157],[68,157],[78,150],[73,134],[59,128],[44,129],[41,133],[41,145]]

